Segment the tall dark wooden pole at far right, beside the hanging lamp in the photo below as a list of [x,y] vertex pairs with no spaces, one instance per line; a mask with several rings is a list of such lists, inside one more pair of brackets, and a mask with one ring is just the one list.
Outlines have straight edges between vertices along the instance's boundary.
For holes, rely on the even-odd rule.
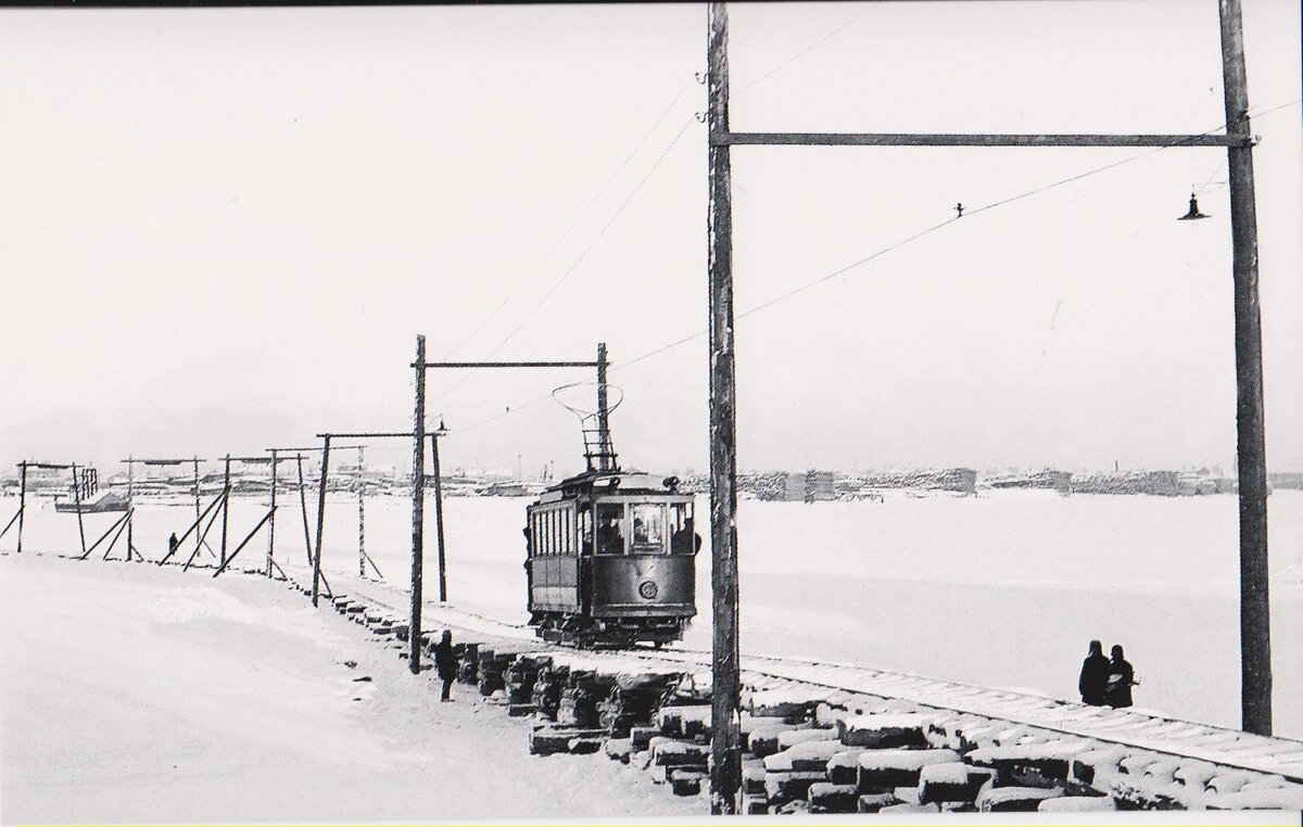
[[1267,573],[1267,436],[1263,323],[1257,303],[1257,214],[1248,79],[1239,0],[1221,0],[1222,90],[1235,292],[1235,430],[1239,465],[1239,646],[1242,724],[1272,733],[1272,616]]

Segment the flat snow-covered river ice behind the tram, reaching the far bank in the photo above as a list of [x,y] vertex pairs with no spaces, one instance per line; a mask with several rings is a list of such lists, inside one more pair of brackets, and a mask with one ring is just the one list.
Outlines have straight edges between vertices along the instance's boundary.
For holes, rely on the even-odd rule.
[[[39,500],[23,544],[74,551],[76,518]],[[276,556],[305,561],[297,498],[281,499]],[[444,522],[448,591],[459,608],[523,621],[525,499],[453,498]],[[4,520],[17,505],[0,499]],[[706,498],[697,498],[700,514]],[[266,508],[236,499],[232,546]],[[315,522],[315,500],[310,501]],[[1303,737],[1303,492],[1270,498],[1276,729]],[[165,551],[193,504],[142,500],[137,547]],[[86,517],[89,540],[116,518]],[[437,595],[426,509],[426,595]],[[215,538],[220,524],[210,535]],[[315,525],[313,525],[315,530]],[[687,645],[709,647],[710,563],[697,564],[700,615]],[[357,501],[331,495],[323,568],[357,572]],[[889,499],[739,507],[745,652],[851,660],[988,686],[1075,698],[1091,638],[1122,643],[1143,684],[1136,703],[1178,718],[1239,723],[1238,540],[1234,496]],[[13,548],[13,531],[0,544]],[[186,543],[186,551],[189,550]],[[366,503],[366,547],[387,578],[409,572],[410,503]],[[241,555],[255,565],[259,538]]]

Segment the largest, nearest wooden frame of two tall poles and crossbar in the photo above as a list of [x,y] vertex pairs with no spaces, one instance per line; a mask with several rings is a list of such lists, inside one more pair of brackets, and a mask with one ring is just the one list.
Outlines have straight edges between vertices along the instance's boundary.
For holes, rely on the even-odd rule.
[[1240,698],[1247,732],[1272,733],[1267,452],[1259,310],[1253,138],[1240,0],[1218,0],[1226,134],[734,133],[728,126],[728,13],[710,3],[708,38],[710,522],[714,589],[711,813],[739,811],[736,366],[732,313],[732,146],[1226,147],[1235,310],[1239,469]]

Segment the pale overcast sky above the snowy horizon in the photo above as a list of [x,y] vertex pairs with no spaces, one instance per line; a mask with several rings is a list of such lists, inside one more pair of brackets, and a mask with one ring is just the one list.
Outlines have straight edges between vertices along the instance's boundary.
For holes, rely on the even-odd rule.
[[[730,23],[737,130],[1225,120],[1216,0],[737,4]],[[1268,453],[1299,469],[1299,5],[1244,0],[1244,25]],[[410,428],[417,333],[430,358],[601,340],[622,363],[704,331],[705,26],[688,4],[0,12],[0,462]],[[741,468],[1229,470],[1225,150],[740,147],[737,309],[956,202],[1141,154],[741,319]],[[1175,221],[1205,182],[1213,217]],[[582,378],[431,372],[430,412],[465,428],[444,464],[575,469],[547,395]],[[706,466],[706,379],[704,336],[612,372],[625,465]]]

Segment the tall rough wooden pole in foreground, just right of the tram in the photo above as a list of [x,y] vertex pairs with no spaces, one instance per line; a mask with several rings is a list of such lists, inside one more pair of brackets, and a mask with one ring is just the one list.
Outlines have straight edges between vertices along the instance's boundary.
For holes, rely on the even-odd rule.
[[736,814],[741,789],[737,645],[737,456],[734,370],[728,10],[710,4],[710,581],[714,608],[710,811]]

